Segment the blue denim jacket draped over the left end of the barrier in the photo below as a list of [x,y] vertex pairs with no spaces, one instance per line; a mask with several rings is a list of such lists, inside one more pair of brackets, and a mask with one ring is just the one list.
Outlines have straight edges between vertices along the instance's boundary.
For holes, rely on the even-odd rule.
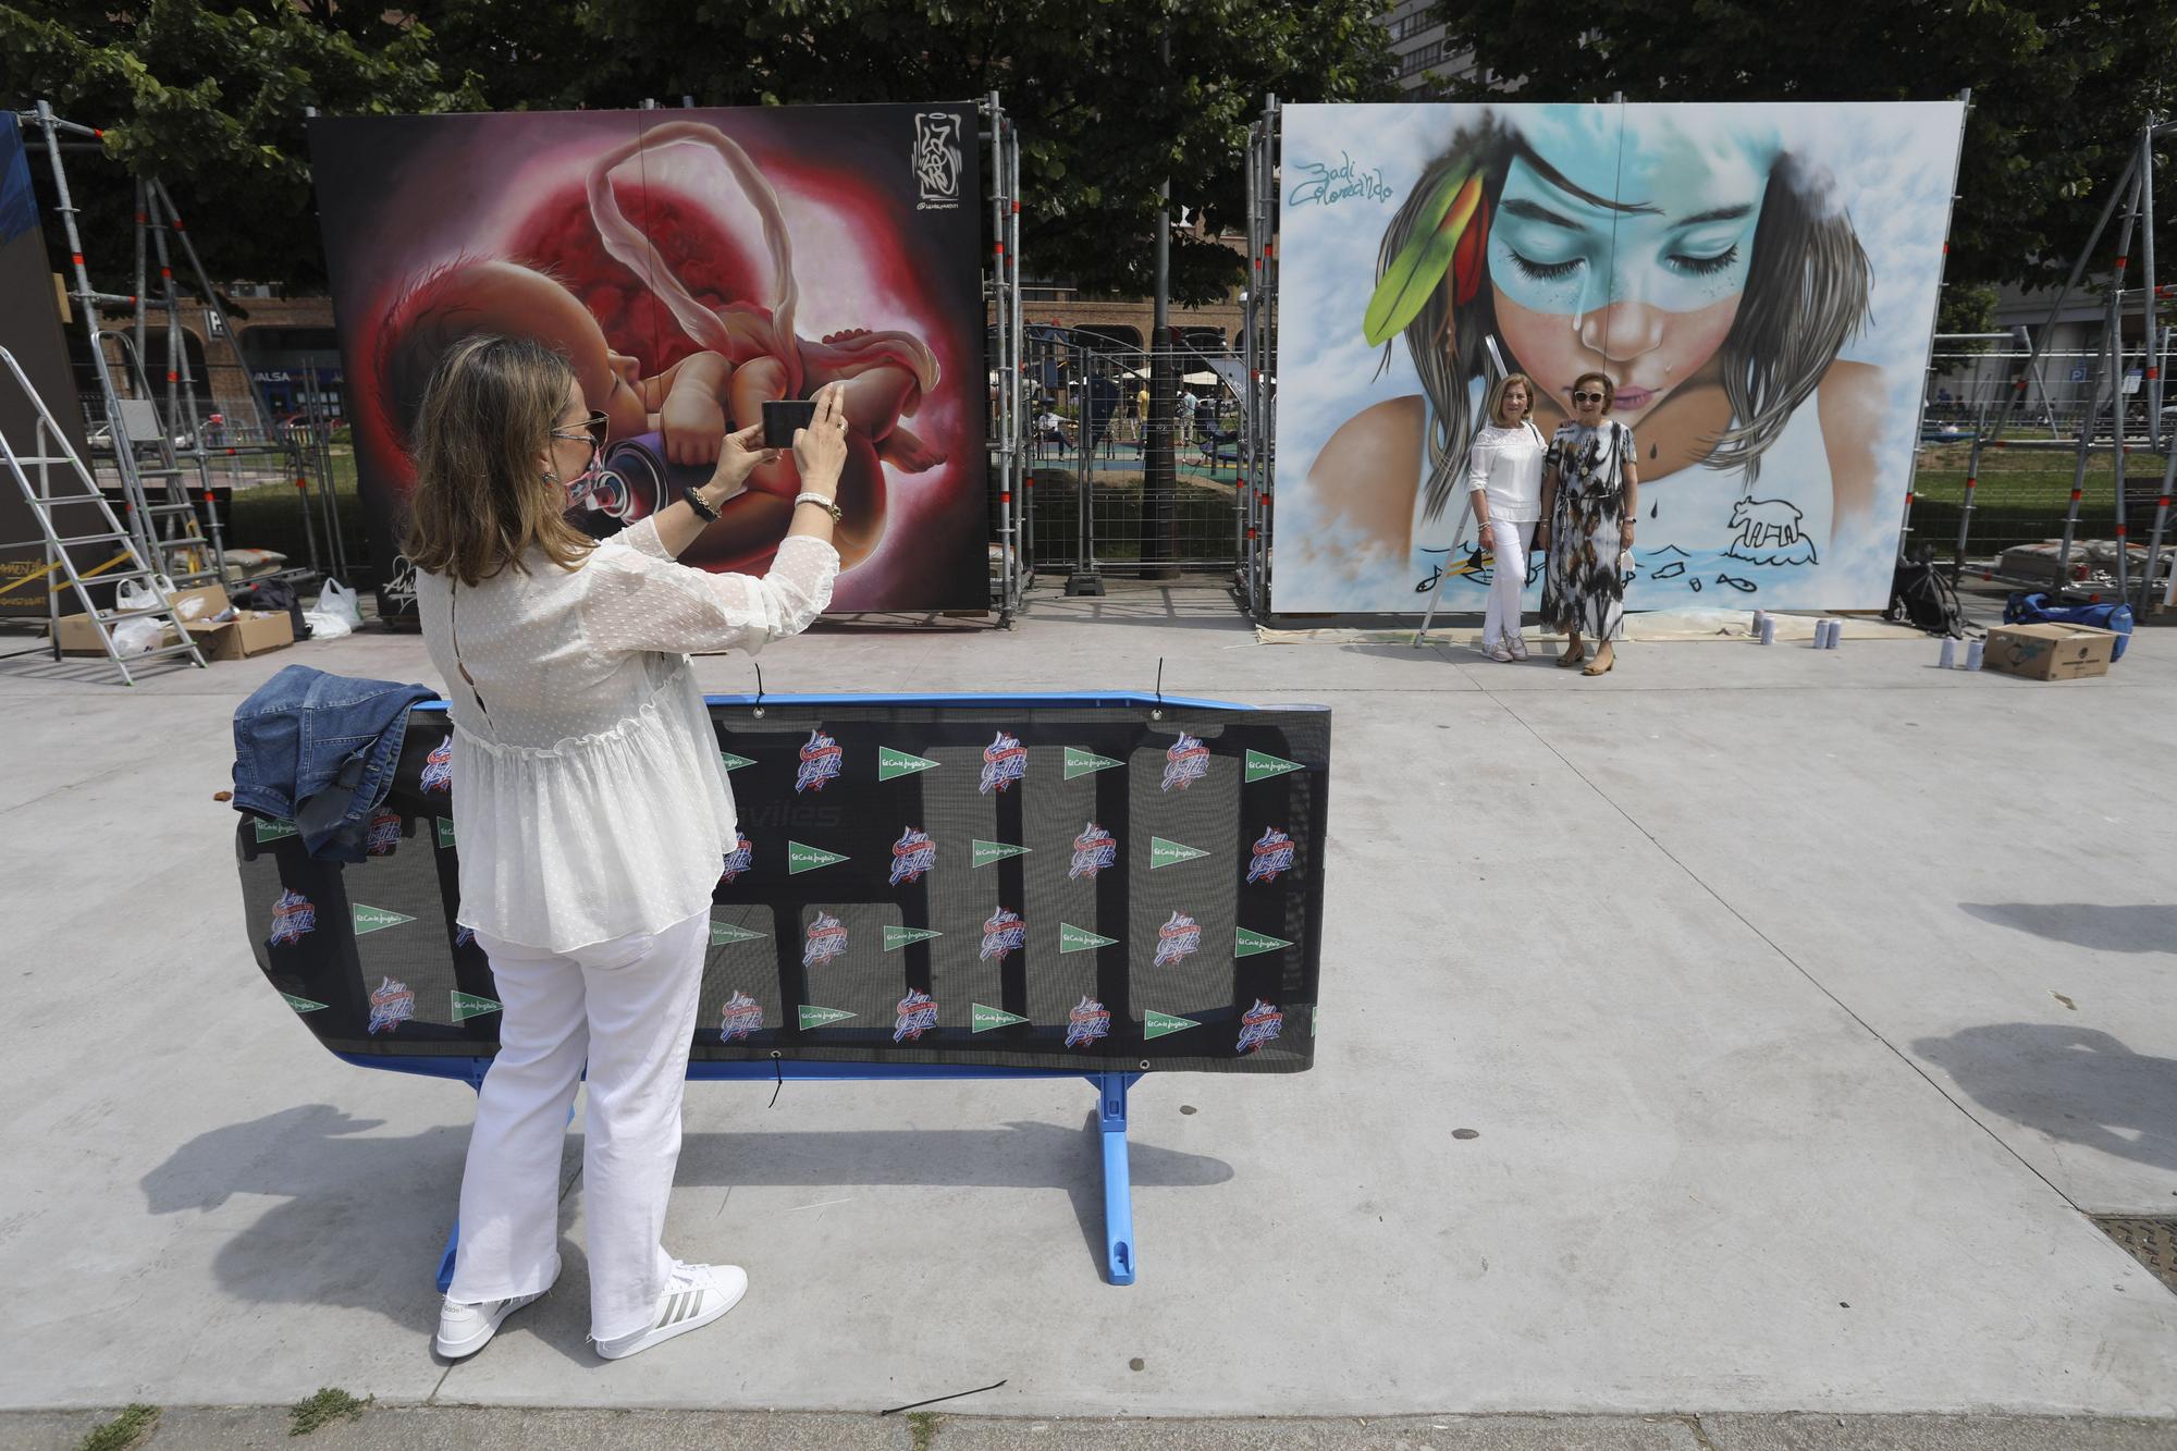
[[290,664],[235,708],[235,810],[292,819],[311,856],[364,861],[420,699],[438,691]]

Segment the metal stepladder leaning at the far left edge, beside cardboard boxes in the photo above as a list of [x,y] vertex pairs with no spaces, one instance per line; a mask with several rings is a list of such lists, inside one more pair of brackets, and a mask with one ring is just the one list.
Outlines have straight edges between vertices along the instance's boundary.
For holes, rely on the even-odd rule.
[[[135,684],[131,664],[142,667],[152,660],[187,658],[192,664],[202,667],[205,656],[196,647],[196,638],[174,614],[174,601],[168,595],[172,584],[161,580],[159,571],[144,558],[137,536],[113,514],[113,505],[98,490],[98,479],[83,464],[83,458],[67,442],[59,420],[52,416],[52,410],[46,407],[46,399],[39,397],[28,375],[24,375],[22,364],[7,349],[0,349],[0,388],[20,390],[35,418],[30,438],[15,440],[0,431],[0,464],[7,466],[15,488],[22,490],[22,499],[39,527],[37,540],[20,542],[41,542],[46,549],[44,569],[24,573],[0,588],[46,590],[46,619],[52,627],[52,651],[57,656],[61,649],[61,603],[74,597],[107,660],[120,671],[122,684]],[[78,553],[98,562],[83,566],[76,562]],[[100,603],[98,595],[107,586],[113,590],[111,599]],[[148,649],[135,649],[133,641],[124,649],[115,641],[118,632],[122,636],[135,634],[135,630],[126,627],[133,621],[146,621],[155,627]]]

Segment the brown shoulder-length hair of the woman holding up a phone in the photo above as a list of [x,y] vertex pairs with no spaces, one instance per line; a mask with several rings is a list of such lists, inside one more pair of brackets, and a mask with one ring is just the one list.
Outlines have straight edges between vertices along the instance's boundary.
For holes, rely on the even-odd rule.
[[536,462],[575,368],[531,338],[475,333],[438,362],[416,418],[407,558],[479,584],[540,549],[575,569],[594,540],[566,521],[566,490]]

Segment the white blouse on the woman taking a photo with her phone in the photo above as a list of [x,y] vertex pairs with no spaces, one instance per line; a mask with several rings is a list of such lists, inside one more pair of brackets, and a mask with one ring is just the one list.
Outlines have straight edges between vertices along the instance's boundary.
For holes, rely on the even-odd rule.
[[418,573],[453,717],[455,919],[570,952],[705,911],[738,824],[688,654],[799,634],[836,575],[838,551],[808,536],[762,577],[712,575],[653,521],[570,571],[533,553],[475,586]]

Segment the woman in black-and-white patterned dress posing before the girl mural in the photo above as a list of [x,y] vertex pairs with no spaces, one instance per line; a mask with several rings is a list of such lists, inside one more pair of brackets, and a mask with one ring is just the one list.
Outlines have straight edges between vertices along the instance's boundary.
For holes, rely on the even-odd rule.
[[1602,373],[1572,383],[1572,420],[1550,438],[1541,468],[1539,547],[1550,551],[1541,575],[1541,617],[1570,636],[1563,667],[1587,660],[1583,634],[1594,636],[1596,658],[1583,675],[1604,675],[1618,664],[1611,641],[1624,623],[1626,577],[1620,556],[1633,549],[1639,514],[1639,471],[1633,429],[1609,416],[1618,390]]

